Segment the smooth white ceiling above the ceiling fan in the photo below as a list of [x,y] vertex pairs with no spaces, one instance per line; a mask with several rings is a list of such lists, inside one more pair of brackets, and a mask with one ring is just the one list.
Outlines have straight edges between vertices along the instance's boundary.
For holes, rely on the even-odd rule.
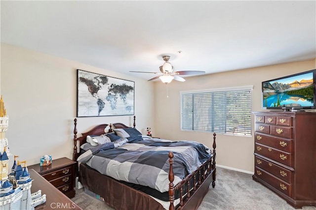
[[[144,79],[316,58],[316,0],[0,1],[1,42]],[[181,54],[178,51],[182,51]],[[89,69],[84,69],[89,70]]]

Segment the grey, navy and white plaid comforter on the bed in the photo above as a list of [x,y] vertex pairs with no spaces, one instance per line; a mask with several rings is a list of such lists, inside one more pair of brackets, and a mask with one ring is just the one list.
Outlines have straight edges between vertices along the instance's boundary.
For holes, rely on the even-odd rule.
[[165,192],[169,190],[169,151],[174,154],[174,184],[196,170],[211,154],[207,147],[192,141],[153,138],[127,143],[127,139],[120,139],[87,150],[79,156],[78,162],[116,180]]

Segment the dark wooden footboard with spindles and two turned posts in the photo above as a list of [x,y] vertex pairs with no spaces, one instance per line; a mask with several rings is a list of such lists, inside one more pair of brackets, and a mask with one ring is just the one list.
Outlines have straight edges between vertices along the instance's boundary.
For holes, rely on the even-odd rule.
[[[169,210],[196,210],[201,204],[205,194],[208,191],[209,185],[212,182],[212,187],[215,187],[216,180],[216,133],[213,133],[213,151],[209,159],[207,159],[200,167],[197,168],[192,174],[186,176],[181,182],[174,186],[174,173],[173,173],[173,153],[169,152]],[[212,175],[212,180],[210,179]],[[193,187],[190,182],[193,182]],[[185,191],[183,188],[186,186]],[[180,190],[180,203],[174,206],[174,192]]]

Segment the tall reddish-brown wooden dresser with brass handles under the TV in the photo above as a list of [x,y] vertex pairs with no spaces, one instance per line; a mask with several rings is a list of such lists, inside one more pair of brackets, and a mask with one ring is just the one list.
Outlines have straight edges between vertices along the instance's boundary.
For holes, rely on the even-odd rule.
[[253,112],[254,175],[294,208],[316,206],[316,113]]

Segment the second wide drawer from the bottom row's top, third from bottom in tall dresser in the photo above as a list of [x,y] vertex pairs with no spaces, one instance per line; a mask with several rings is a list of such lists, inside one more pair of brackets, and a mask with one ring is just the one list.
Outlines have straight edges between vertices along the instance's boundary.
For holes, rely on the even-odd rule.
[[255,152],[263,156],[266,156],[267,158],[276,160],[277,162],[282,163],[284,165],[292,165],[292,154],[289,152],[277,150],[275,148],[267,147],[265,145],[261,145],[258,143],[255,143]]

